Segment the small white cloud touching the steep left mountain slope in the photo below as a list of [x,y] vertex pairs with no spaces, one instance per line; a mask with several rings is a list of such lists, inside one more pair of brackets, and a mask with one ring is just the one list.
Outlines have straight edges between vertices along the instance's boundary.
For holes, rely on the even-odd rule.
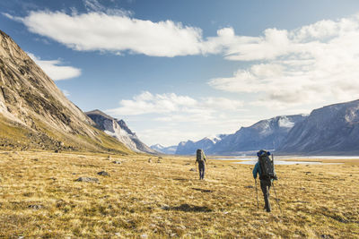
[[61,65],[63,63],[60,60],[44,61],[31,53],[28,55],[54,81],[67,80],[81,75],[81,69]]

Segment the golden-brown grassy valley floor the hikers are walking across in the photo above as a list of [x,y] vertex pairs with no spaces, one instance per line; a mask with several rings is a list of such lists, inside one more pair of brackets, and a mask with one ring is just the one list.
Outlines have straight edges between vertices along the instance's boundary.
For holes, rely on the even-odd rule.
[[267,213],[252,166],[209,160],[199,181],[194,158],[0,151],[0,237],[357,238],[359,162],[343,162],[276,166]]

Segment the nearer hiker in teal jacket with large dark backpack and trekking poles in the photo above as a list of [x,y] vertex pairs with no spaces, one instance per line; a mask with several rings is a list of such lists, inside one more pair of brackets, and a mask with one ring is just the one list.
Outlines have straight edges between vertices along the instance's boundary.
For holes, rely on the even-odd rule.
[[[257,187],[257,174],[259,174],[260,179],[260,189],[263,192],[265,208],[267,212],[270,212],[270,203],[269,203],[269,189],[272,185],[272,182],[276,178],[276,172],[273,165],[273,160],[269,158],[270,152],[264,149],[258,151],[258,162],[253,168],[253,177],[256,180]],[[258,199],[257,199],[258,200]]]

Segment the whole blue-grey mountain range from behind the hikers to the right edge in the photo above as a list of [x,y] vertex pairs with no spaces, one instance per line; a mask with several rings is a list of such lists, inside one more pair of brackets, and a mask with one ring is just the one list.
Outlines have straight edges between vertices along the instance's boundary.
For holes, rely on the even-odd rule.
[[282,115],[241,127],[216,140],[182,141],[176,154],[204,149],[213,155],[252,154],[270,149],[277,154],[359,154],[359,100],[315,109],[310,115]]

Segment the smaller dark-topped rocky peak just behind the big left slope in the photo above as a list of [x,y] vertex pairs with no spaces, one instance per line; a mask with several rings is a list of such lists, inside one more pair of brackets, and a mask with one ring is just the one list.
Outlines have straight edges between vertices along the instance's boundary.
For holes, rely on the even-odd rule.
[[156,151],[140,141],[136,133],[132,132],[123,120],[115,119],[98,109],[86,112],[86,115],[92,119],[98,129],[116,138],[125,144],[127,148],[136,152],[156,153]]

